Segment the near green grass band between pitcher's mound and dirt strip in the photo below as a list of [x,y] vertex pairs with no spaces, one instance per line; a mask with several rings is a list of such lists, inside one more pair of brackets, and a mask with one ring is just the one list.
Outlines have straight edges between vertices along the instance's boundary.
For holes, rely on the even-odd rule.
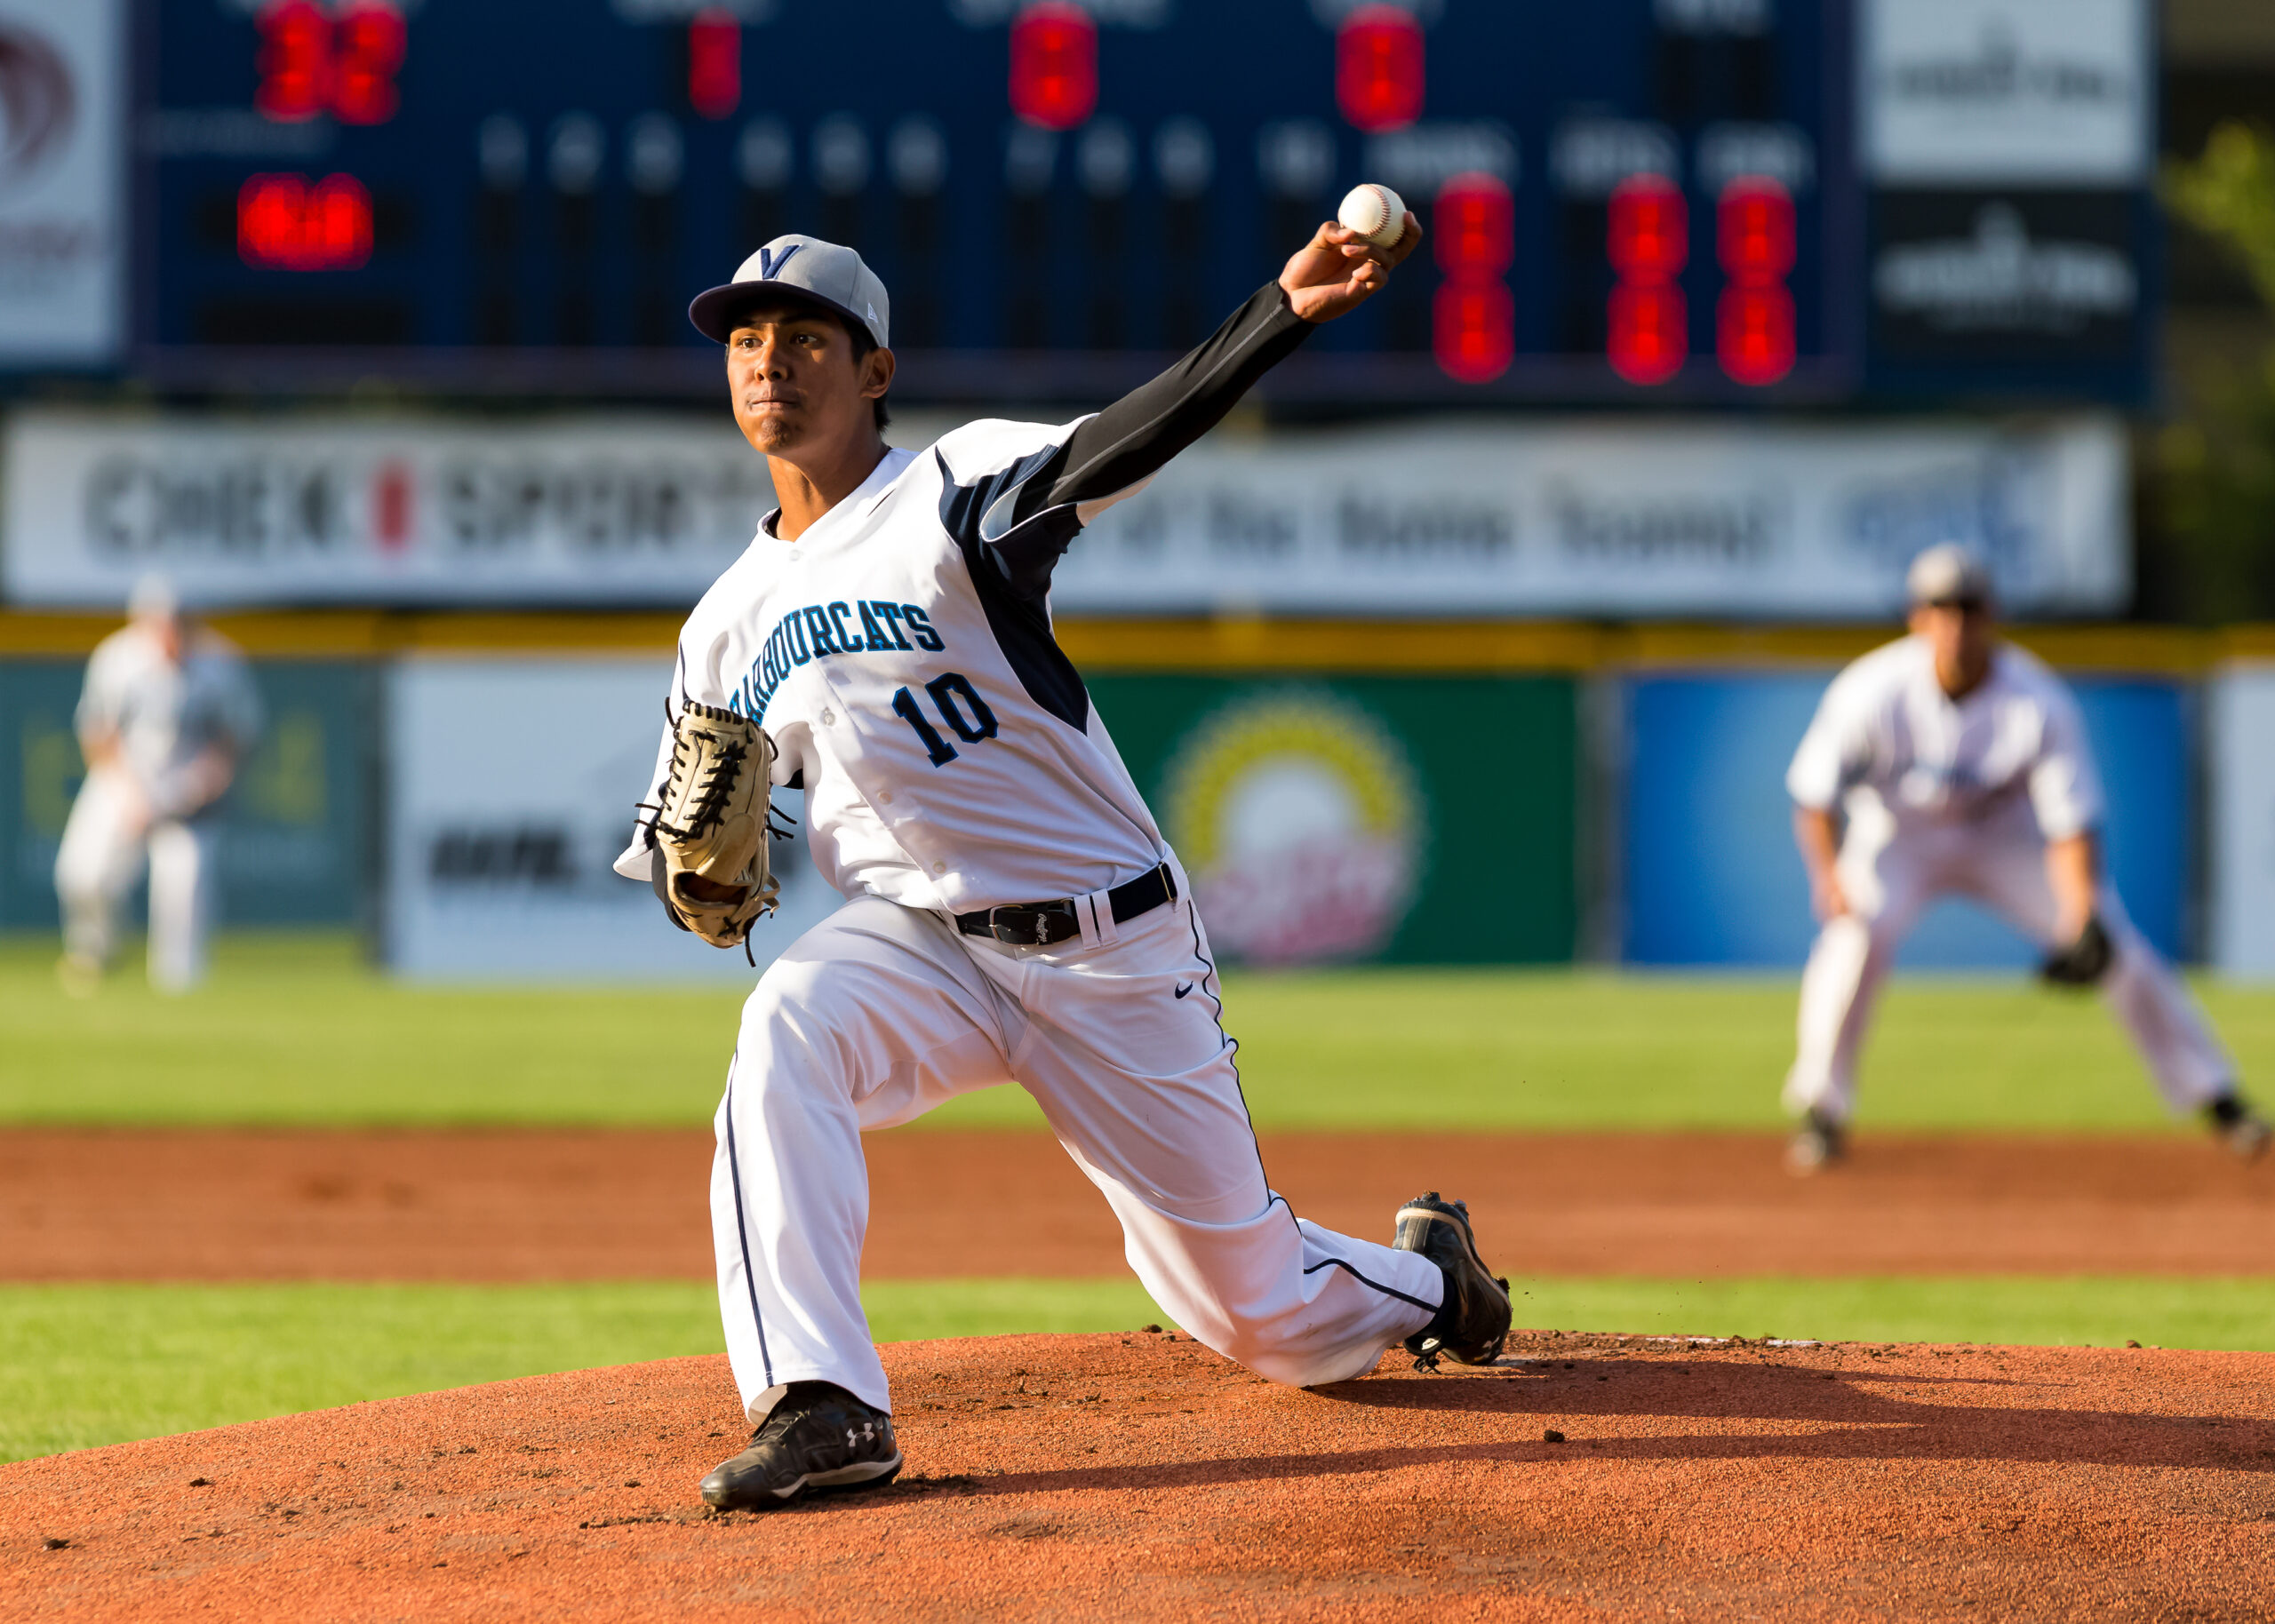
[[[1520,1281],[1517,1324],[1843,1342],[2275,1347],[2275,1281]],[[1126,1331],[1128,1281],[880,1281],[880,1342]],[[717,1353],[703,1283],[0,1285],[0,1460],[555,1369]]]

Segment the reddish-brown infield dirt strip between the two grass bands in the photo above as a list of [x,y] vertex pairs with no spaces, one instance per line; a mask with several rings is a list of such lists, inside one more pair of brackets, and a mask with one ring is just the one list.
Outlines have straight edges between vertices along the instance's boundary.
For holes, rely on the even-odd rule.
[[[869,1137],[871,1278],[1119,1276],[1099,1194],[1033,1133]],[[2268,1274],[2275,1167],[2195,1137],[1863,1137],[1788,1178],[1765,1135],[1272,1135],[1299,1212],[1388,1231],[1467,1196],[1529,1274]],[[708,1278],[708,1133],[0,1130],[0,1278]]]

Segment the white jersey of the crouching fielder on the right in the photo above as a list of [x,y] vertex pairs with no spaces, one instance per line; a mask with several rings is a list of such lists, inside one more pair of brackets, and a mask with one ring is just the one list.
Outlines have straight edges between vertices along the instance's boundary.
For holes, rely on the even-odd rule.
[[1877,803],[1897,828],[1982,823],[2027,801],[2045,839],[2102,821],[2102,782],[2061,678],[2000,644],[1991,673],[1954,701],[1927,641],[1904,637],[1847,666],[1818,703],[1786,792],[1831,810]]

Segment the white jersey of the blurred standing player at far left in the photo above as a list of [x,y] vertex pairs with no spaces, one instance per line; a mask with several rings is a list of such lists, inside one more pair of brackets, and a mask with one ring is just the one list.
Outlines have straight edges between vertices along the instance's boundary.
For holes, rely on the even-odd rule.
[[116,732],[127,771],[164,796],[200,751],[223,744],[241,755],[253,746],[262,696],[243,655],[218,632],[193,630],[175,664],[148,630],[127,625],[86,662],[77,728],[80,737]]

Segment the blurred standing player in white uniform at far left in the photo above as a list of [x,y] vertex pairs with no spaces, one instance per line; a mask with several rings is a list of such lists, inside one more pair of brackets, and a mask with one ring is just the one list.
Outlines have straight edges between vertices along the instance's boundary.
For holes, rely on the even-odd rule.
[[118,910],[150,869],[150,985],[205,976],[214,807],[262,730],[243,655],[146,580],[127,625],[86,662],[77,730],[86,782],[55,853],[64,987],[93,992],[118,946]]

